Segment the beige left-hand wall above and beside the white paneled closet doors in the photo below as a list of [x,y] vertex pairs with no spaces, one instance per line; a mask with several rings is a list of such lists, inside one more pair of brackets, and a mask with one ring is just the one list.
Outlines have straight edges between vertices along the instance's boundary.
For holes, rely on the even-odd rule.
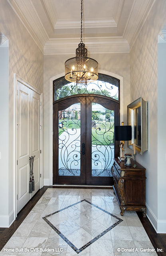
[[[43,54],[6,0],[0,0],[0,32],[9,40],[9,170],[3,181],[8,215],[14,209],[13,104],[14,73],[43,91]],[[6,170],[7,171],[7,170]],[[1,196],[3,192],[0,192]],[[9,197],[8,195],[9,194]],[[1,213],[0,213],[1,214]]]

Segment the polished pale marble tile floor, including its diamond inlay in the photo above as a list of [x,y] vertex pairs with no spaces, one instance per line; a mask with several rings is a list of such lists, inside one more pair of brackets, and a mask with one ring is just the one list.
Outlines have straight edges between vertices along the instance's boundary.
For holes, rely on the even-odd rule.
[[157,256],[136,212],[113,190],[49,188],[0,256]]

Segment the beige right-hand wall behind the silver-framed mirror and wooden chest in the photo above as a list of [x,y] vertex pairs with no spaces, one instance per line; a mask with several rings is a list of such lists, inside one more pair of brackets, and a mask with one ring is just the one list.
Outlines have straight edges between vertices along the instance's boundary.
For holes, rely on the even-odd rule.
[[158,172],[160,170],[157,168],[158,35],[165,24],[166,1],[157,0],[130,51],[131,101],[140,96],[148,101],[148,151],[142,156],[137,155],[136,158],[139,163],[146,167],[147,212],[156,229],[158,196],[161,196],[158,184]]

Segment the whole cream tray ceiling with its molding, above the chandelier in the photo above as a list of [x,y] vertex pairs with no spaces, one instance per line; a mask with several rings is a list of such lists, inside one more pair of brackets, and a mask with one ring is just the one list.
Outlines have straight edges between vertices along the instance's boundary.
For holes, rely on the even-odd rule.
[[[90,53],[129,52],[156,0],[83,0],[83,42]],[[44,54],[75,54],[81,0],[8,0]]]

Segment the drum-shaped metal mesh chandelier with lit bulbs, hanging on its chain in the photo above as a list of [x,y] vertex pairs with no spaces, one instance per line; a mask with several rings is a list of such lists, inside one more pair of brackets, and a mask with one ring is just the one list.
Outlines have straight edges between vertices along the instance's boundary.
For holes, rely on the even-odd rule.
[[87,57],[87,49],[82,40],[83,0],[81,0],[81,42],[76,49],[76,57],[65,62],[65,79],[76,84],[85,84],[98,79],[98,62]]

